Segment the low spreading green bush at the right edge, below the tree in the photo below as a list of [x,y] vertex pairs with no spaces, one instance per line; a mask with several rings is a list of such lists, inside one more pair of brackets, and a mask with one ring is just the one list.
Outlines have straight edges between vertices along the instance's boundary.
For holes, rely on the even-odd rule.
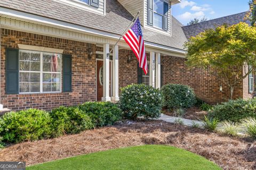
[[256,118],[256,99],[229,100],[228,102],[214,106],[210,112],[212,117],[220,121],[239,122],[246,117]]

